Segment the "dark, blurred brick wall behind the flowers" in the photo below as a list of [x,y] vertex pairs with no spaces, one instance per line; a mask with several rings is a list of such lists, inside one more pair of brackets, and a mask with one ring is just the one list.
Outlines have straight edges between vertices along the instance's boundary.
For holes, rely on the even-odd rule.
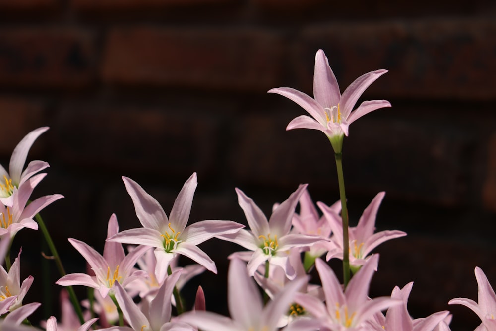
[[[344,143],[352,223],[386,191],[377,228],[409,233],[378,250],[372,293],[413,280],[416,317],[450,309],[453,330],[473,329],[475,314],[447,301],[476,298],[476,265],[496,286],[495,17],[489,0],[0,0],[1,161],[51,127],[30,154],[51,164],[35,194],[65,196],[44,216],[74,272],[82,260],[67,237],[101,249],[112,212],[122,229],[139,224],[122,175],[168,213],[196,171],[191,221],[245,222],[235,187],[267,213],[299,183],[331,204],[327,139],[286,132],[304,110],[266,91],[310,94],[319,48],[342,90],[388,69],[361,100],[393,107],[354,123]],[[39,235],[16,239],[32,273],[38,253],[25,242]],[[225,257],[238,247],[201,247],[219,268],[193,281],[220,284],[208,307],[225,297]]]

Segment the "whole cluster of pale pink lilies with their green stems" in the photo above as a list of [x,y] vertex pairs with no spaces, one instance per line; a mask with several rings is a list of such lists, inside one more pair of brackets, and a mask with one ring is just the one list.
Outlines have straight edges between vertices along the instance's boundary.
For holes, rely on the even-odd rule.
[[[353,108],[364,90],[386,70],[359,77],[341,95],[336,78],[322,50],[315,57],[314,98],[291,88],[278,93],[301,105],[310,115],[291,121],[288,130],[309,128],[328,137],[336,155],[340,201],[314,203],[309,185],[302,184],[281,203],[275,203],[270,217],[253,199],[236,188],[245,222],[202,220],[189,223],[197,187],[197,174],[185,182],[167,216],[160,203],[134,180],[122,177],[140,225],[120,231],[115,214],[110,216],[107,238],[100,254],[76,238],[69,242],[86,260],[87,273],[61,272],[57,284],[61,292],[60,322],[51,316],[40,325],[47,331],[447,331],[448,311],[424,318],[412,318],[407,301],[413,282],[395,286],[390,296],[369,297],[379,255],[372,254],[383,242],[405,236],[399,230],[375,232],[378,208],[385,193],[379,192],[363,211],[356,226],[350,226],[341,168],[342,144],[348,126],[361,116],[382,107],[385,100],[364,101]],[[10,264],[10,248],[22,228],[45,229],[39,212],[62,198],[59,194],[31,201],[34,188],[48,167],[32,161],[23,170],[28,151],[48,128],[28,133],[15,147],[9,172],[0,166],[0,328],[9,331],[39,330],[27,320],[40,303],[24,304],[33,283],[28,276],[20,281],[19,251]],[[34,219],[36,218],[36,220]],[[60,263],[48,231],[52,255]],[[201,287],[189,305],[181,296],[187,281],[205,270],[217,273],[215,262],[198,245],[217,238],[236,243],[245,250],[233,252],[228,271],[230,317],[206,311]],[[124,249],[123,244],[127,244]],[[189,265],[179,259],[192,261]],[[343,282],[327,261],[343,262]],[[310,277],[315,268],[318,279]],[[62,268],[63,270],[63,268]],[[496,295],[480,268],[475,269],[479,285],[478,303],[456,298],[449,304],[472,309],[482,323],[477,331],[496,331]],[[91,289],[81,303],[72,286]],[[219,285],[222,286],[222,285]],[[69,303],[69,298],[71,303]],[[81,307],[85,307],[85,311]],[[385,313],[384,313],[385,312]],[[96,317],[95,317],[96,316]]]

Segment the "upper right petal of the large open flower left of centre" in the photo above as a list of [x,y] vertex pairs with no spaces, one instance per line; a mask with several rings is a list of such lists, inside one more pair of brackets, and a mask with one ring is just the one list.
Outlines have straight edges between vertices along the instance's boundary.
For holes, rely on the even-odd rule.
[[171,214],[169,215],[169,221],[172,223],[172,228],[176,231],[181,232],[186,227],[197,184],[196,173],[194,172],[186,180],[186,183],[179,192],[176,201],[174,201]]

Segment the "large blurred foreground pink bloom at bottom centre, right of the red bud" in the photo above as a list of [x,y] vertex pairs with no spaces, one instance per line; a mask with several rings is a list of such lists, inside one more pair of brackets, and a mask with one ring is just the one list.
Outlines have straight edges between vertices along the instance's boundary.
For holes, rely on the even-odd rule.
[[[281,316],[286,313],[298,289],[306,278],[289,282],[283,291],[265,306],[245,264],[232,259],[228,271],[228,306],[231,318],[207,311],[187,312],[178,320],[190,323],[203,331],[274,331]],[[301,331],[313,330],[301,328]]]

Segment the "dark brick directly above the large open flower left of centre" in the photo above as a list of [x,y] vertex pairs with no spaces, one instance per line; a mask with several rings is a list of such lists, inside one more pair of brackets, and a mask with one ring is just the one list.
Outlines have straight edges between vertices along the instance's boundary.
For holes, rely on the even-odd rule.
[[84,108],[62,111],[53,132],[55,153],[72,166],[169,180],[212,170],[216,126],[208,117],[160,109]]

